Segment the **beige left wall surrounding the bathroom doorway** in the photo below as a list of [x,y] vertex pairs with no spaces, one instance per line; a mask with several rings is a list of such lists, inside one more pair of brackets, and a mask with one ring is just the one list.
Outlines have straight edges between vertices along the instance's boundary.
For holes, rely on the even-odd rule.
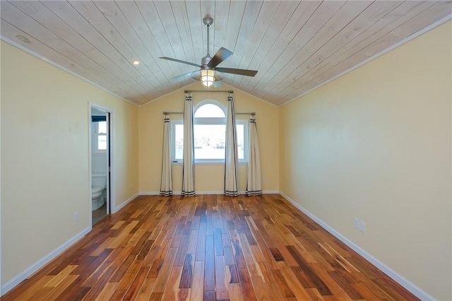
[[88,102],[115,112],[116,206],[138,192],[138,107],[5,42],[1,74],[4,285],[89,228]]

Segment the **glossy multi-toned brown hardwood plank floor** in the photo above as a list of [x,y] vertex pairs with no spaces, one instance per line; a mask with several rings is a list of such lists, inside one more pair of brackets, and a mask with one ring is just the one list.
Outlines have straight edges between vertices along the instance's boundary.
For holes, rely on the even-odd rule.
[[8,300],[417,300],[278,194],[139,196]]

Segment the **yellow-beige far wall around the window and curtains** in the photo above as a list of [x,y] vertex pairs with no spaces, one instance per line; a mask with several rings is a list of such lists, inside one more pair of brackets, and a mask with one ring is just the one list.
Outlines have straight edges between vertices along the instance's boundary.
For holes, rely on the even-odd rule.
[[[195,83],[186,87],[190,90],[203,89]],[[256,124],[261,151],[261,166],[264,191],[278,191],[278,107],[269,105],[258,98],[242,93],[228,85],[213,90],[234,90],[234,105],[236,112],[256,112]],[[203,100],[216,100],[226,106],[227,94],[224,93],[193,93],[194,106]],[[160,191],[162,170],[162,112],[184,111],[184,90],[178,90],[163,98],[143,105],[138,110],[138,136],[140,161],[140,191],[141,193],[156,193]],[[172,115],[171,118],[182,118],[182,115]],[[239,117],[237,117],[239,118]],[[241,118],[248,119],[246,115]],[[182,165],[173,165],[173,191],[182,190]],[[223,191],[224,165],[195,165],[195,189],[200,192]],[[246,165],[239,165],[239,190],[246,189]]]

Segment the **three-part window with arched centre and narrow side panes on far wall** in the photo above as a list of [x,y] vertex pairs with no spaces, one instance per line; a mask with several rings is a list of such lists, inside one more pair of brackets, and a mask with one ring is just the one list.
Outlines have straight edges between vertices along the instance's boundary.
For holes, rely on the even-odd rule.
[[[194,147],[196,163],[224,163],[226,136],[226,109],[220,102],[204,100],[194,107]],[[246,162],[248,120],[236,119],[239,162]],[[173,162],[182,162],[184,124],[173,121]]]

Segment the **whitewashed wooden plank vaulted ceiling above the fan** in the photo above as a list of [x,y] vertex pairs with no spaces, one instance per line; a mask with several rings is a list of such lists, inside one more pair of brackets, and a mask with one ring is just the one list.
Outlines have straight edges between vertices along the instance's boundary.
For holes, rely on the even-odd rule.
[[[451,1],[1,1],[1,38],[142,105],[194,83],[172,79],[234,54],[224,83],[283,105],[438,20]],[[434,45],[432,45],[434,47]],[[132,61],[141,61],[135,66]]]

